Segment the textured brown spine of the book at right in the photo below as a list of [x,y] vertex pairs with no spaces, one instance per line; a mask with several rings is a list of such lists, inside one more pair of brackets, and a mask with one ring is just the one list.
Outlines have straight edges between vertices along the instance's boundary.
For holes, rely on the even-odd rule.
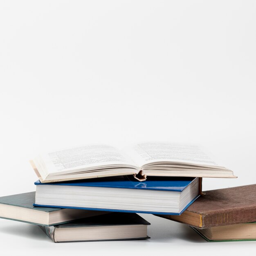
[[256,207],[217,211],[202,215],[202,228],[255,222]]

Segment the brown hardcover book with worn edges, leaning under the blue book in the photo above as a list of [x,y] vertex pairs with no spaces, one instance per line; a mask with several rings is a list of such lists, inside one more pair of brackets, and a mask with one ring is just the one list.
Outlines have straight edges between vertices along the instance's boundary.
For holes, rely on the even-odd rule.
[[256,221],[256,184],[206,191],[180,216],[157,215],[198,228]]

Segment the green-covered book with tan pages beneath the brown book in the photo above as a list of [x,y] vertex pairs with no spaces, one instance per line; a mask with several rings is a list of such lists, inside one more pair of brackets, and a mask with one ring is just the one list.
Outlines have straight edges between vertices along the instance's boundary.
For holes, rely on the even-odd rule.
[[191,228],[208,242],[256,241],[256,222],[206,229]]

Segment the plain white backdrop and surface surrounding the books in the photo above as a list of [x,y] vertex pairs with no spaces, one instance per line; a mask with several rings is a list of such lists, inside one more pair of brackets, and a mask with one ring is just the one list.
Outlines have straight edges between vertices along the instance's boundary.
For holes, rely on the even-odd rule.
[[[238,176],[204,179],[204,190],[256,183],[255,45],[255,1],[2,0],[0,196],[35,189],[38,152],[98,142],[201,144]],[[1,255],[255,249],[143,216],[150,240],[65,244],[0,220]]]

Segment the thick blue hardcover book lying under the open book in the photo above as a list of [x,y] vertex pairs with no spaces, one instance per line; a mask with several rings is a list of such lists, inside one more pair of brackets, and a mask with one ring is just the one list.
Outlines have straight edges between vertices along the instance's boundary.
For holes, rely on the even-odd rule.
[[201,179],[129,176],[68,182],[35,182],[37,207],[180,215],[200,195]]

